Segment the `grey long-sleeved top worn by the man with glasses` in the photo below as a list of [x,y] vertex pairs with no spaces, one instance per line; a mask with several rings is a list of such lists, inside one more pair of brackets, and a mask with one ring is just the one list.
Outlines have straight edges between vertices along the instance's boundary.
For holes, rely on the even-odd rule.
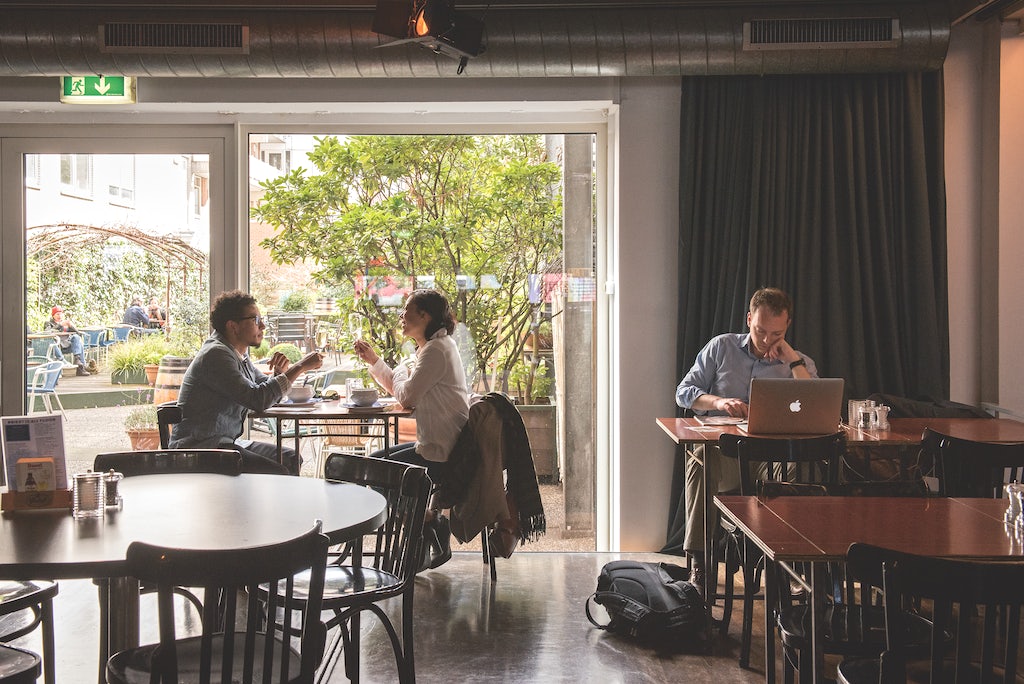
[[291,387],[284,374],[268,376],[213,333],[185,371],[178,393],[181,422],[174,426],[171,448],[215,448],[234,441],[248,411],[275,403]]

